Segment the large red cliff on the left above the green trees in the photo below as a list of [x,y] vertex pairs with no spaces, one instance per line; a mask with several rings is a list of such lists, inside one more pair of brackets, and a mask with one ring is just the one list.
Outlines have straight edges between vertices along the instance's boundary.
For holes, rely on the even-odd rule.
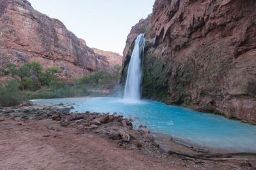
[[26,0],[0,0],[0,31],[0,66],[36,60],[44,68],[60,66],[68,78],[109,69],[106,57]]

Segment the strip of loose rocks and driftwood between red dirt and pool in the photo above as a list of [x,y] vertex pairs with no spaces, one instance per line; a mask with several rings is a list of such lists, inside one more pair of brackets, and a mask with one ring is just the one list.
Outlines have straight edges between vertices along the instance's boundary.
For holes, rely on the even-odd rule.
[[[74,134],[92,134],[100,138],[108,139],[110,143],[115,143],[118,148],[137,150],[142,155],[152,159],[170,162],[174,166],[188,169],[216,169],[231,168],[253,169],[256,167],[255,155],[231,155],[225,157],[212,157],[207,152],[207,157],[198,154],[198,150],[191,150],[186,146],[172,142],[172,149],[164,151],[159,144],[154,142],[154,137],[150,134],[146,125],[140,125],[138,129],[133,129],[132,120],[123,118],[122,115],[109,115],[104,113],[70,113],[73,106],[56,104],[53,106],[22,106],[22,108],[8,108],[0,110],[0,127],[6,121],[17,122],[16,125],[24,125],[26,122],[54,122],[54,125],[47,125],[47,131],[58,132],[63,129],[72,129]],[[58,124],[58,126],[55,126]],[[1,131],[1,128],[0,128]],[[43,138],[56,138],[58,135],[45,134]],[[202,152],[202,151],[201,151]],[[184,155],[179,155],[180,153]],[[190,157],[192,155],[192,157]],[[198,157],[201,155],[201,157]]]

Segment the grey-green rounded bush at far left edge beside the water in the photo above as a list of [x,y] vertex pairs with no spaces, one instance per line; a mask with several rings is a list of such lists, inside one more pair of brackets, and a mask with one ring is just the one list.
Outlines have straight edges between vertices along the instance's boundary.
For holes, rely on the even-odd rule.
[[17,106],[27,101],[26,96],[19,90],[19,83],[15,80],[8,80],[3,86],[0,84],[1,106]]

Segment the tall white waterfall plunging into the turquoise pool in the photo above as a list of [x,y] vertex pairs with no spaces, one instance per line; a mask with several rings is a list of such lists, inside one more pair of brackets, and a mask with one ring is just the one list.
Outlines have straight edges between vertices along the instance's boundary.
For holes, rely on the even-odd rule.
[[[124,90],[124,99],[127,101],[139,101],[141,97],[141,76],[142,64],[145,46],[145,34],[137,36],[134,49],[132,51],[129,63],[127,78]],[[142,54],[142,57],[140,56]]]

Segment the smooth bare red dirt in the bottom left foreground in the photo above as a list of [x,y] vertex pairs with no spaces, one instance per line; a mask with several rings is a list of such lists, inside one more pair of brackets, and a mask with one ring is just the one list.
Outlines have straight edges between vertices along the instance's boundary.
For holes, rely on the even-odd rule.
[[[50,131],[49,125],[60,131]],[[0,169],[183,169],[97,134],[76,134],[53,121],[10,119],[0,122],[0,165]]]

